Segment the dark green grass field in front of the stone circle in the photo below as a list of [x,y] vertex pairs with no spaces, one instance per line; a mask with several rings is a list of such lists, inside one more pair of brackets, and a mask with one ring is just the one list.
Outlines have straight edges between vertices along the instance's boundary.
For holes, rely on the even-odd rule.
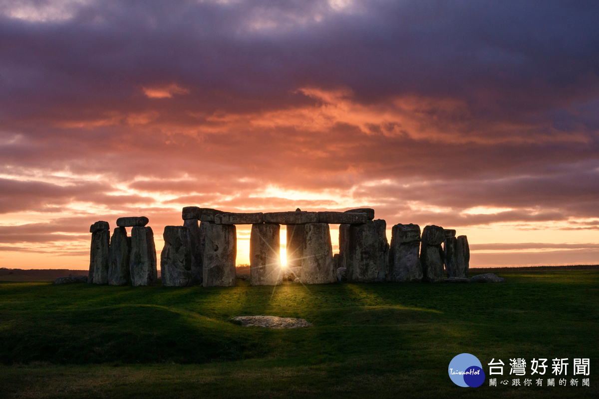
[[[274,290],[0,283],[0,397],[597,397],[599,271],[501,275]],[[314,328],[241,327],[237,315]],[[460,388],[447,366],[462,352],[485,372],[501,358],[510,385],[510,358],[569,358],[568,386]],[[591,358],[590,388],[570,386],[575,357]]]

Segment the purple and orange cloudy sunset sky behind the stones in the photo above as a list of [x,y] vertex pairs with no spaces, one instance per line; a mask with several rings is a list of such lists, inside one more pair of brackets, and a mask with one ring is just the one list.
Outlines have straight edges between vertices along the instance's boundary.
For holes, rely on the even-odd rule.
[[90,224],[120,216],[160,254],[187,205],[367,206],[389,238],[467,235],[471,267],[597,264],[598,21],[596,1],[0,1],[0,267],[87,269]]

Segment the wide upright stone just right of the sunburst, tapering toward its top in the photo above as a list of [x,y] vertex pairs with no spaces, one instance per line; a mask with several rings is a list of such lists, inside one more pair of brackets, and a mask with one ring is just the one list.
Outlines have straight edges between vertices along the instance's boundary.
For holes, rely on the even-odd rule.
[[301,263],[303,284],[335,283],[331,232],[326,223],[307,223]]

